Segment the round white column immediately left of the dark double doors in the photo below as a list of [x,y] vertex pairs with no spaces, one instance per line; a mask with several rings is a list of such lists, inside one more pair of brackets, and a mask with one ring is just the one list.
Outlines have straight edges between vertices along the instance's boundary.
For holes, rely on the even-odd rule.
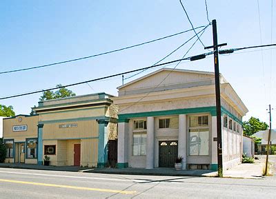
[[153,169],[155,152],[155,118],[147,118],[146,169]]

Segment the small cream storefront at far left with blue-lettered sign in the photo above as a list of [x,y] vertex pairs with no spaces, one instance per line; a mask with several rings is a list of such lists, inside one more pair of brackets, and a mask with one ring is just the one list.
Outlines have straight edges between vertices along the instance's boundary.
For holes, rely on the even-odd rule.
[[5,163],[37,164],[39,116],[3,118],[3,139],[7,147]]

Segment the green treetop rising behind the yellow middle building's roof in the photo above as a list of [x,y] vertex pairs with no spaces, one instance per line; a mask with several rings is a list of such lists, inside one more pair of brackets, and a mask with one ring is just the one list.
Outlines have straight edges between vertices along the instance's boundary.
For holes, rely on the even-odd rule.
[[72,92],[71,90],[68,90],[66,87],[63,87],[63,85],[58,84],[56,92],[53,92],[52,90],[44,91],[42,96],[40,96],[40,101],[46,101],[49,99],[55,99],[55,98],[64,98],[67,96],[75,96],[76,94]]

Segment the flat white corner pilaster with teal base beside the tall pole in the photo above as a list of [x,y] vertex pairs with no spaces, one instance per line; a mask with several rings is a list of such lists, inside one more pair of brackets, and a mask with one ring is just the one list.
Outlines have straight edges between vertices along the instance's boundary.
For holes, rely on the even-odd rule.
[[210,138],[210,141],[212,142],[212,160],[210,169],[217,171],[217,116],[212,116],[212,138]]

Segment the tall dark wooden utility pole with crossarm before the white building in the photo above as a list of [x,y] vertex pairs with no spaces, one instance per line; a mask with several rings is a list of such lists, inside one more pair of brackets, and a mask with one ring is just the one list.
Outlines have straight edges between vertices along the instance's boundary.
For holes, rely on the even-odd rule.
[[213,45],[204,49],[213,48],[215,62],[215,97],[217,109],[217,171],[218,176],[223,177],[222,168],[222,139],[221,139],[221,102],[220,102],[220,78],[219,78],[219,50],[218,48],[227,43],[217,44],[217,21],[212,21],[213,25]]

